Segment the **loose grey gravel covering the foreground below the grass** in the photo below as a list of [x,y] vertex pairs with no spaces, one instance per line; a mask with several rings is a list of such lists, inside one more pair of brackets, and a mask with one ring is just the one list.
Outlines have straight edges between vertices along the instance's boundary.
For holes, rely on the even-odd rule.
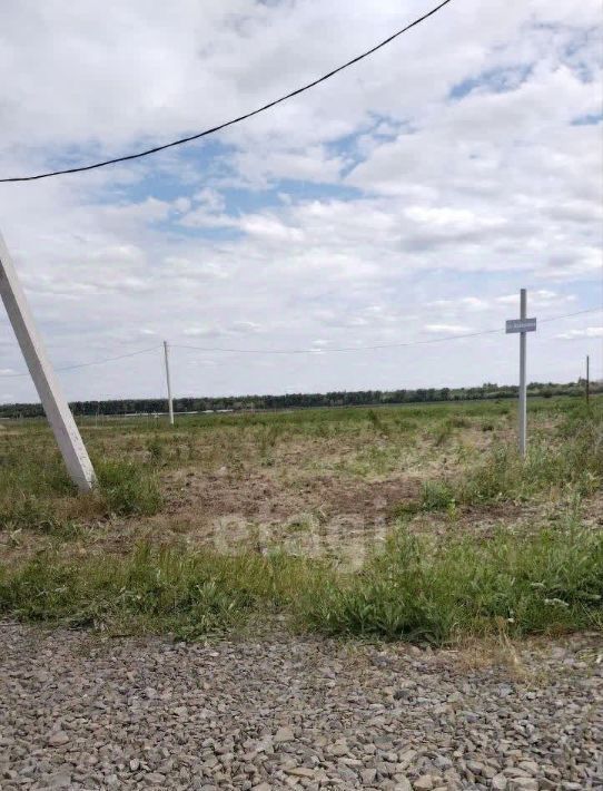
[[0,787],[603,789],[596,637],[511,666],[313,637],[2,624]]

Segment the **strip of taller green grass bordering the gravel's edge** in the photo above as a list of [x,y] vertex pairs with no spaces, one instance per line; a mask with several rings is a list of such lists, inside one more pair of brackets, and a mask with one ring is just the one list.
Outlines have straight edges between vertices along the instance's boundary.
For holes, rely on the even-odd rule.
[[284,554],[216,555],[140,546],[123,558],[46,551],[0,573],[0,613],[26,621],[170,632],[194,639],[286,613],[332,635],[446,644],[603,622],[603,534],[558,529],[436,541],[396,531],[355,574]]

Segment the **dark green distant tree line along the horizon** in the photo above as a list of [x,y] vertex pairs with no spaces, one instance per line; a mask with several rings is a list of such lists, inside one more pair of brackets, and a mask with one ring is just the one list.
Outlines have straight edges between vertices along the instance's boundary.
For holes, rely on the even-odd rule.
[[[532,382],[528,396],[582,396],[585,382]],[[362,407],[395,403],[429,403],[438,401],[472,401],[477,399],[517,398],[517,385],[498,385],[485,382],[476,388],[419,388],[417,390],[356,390],[329,393],[288,393],[286,396],[226,396],[220,398],[178,398],[174,400],[177,412],[206,412],[220,410],[302,409],[308,407]],[[603,382],[592,382],[591,392],[603,392]],[[165,412],[166,399],[116,399],[112,401],[73,401],[76,416],[131,414]],[[37,418],[43,414],[39,403],[0,404],[0,418]]]

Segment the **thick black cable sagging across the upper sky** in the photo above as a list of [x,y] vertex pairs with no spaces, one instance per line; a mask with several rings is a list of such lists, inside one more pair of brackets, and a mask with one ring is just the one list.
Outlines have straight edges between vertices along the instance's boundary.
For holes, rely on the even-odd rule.
[[377,43],[374,47],[372,47],[370,49],[366,50],[366,52],[363,52],[362,55],[357,55],[352,60],[348,60],[346,64],[338,66],[337,68],[333,69],[332,71],[328,71],[326,75],[323,75],[322,77],[318,77],[317,79],[313,80],[312,82],[308,82],[307,85],[304,85],[300,88],[296,88],[295,90],[291,90],[289,94],[286,94],[285,96],[280,96],[278,99],[273,99],[273,101],[269,101],[267,105],[263,105],[261,107],[258,107],[257,109],[251,110],[250,113],[245,113],[244,115],[238,116],[237,118],[231,118],[230,120],[224,121],[223,124],[219,124],[218,126],[210,127],[209,129],[204,129],[202,131],[198,131],[194,135],[188,135],[187,137],[180,137],[177,140],[172,140],[171,143],[165,143],[161,146],[155,146],[154,148],[147,148],[146,150],[138,152],[137,154],[128,154],[127,156],[115,157],[113,159],[105,159],[102,162],[97,162],[91,165],[81,165],[80,167],[69,167],[69,168],[65,168],[62,170],[50,170],[48,173],[39,173],[33,176],[13,176],[11,178],[0,178],[0,183],[6,184],[6,183],[12,183],[12,182],[36,182],[40,178],[50,178],[51,176],[63,176],[69,173],[82,173],[83,170],[95,170],[99,167],[106,167],[107,165],[116,165],[117,163],[120,163],[120,162],[130,162],[132,159],[140,159],[141,157],[147,157],[147,156],[150,156],[151,154],[157,154],[158,152],[165,152],[167,148],[174,148],[176,146],[181,146],[185,143],[191,143],[192,140],[198,140],[201,137],[207,137],[208,135],[214,135],[217,131],[221,131],[221,129],[226,129],[229,126],[235,126],[235,124],[240,124],[241,121],[247,120],[247,118],[251,118],[253,116],[257,116],[260,113],[265,113],[266,110],[269,110],[271,107],[276,107],[276,105],[279,105],[283,101],[287,101],[288,99],[293,99],[294,96],[299,96],[299,94],[304,94],[306,90],[314,88],[315,86],[319,85],[320,82],[325,82],[326,80],[330,79],[335,75],[339,74],[339,71],[343,71],[344,69],[347,69],[350,66],[358,64],[360,60],[368,58],[370,55],[373,55],[377,50],[382,49],[382,47],[385,47],[386,45],[388,45],[392,41],[394,41],[395,39],[397,39],[398,36],[402,36],[406,31],[411,30],[411,28],[414,28],[417,25],[421,25],[421,22],[424,22],[429,17],[433,17],[434,13],[437,13],[437,11],[439,11],[442,8],[444,8],[444,6],[447,6],[449,2],[452,2],[452,0],[444,0],[443,2],[439,3],[439,6],[436,6],[427,13],[424,13],[418,19],[415,19],[414,22],[411,22],[405,28],[402,28],[402,30],[398,30],[397,32],[389,36],[388,38],[384,39],[383,41],[379,41],[379,43]]

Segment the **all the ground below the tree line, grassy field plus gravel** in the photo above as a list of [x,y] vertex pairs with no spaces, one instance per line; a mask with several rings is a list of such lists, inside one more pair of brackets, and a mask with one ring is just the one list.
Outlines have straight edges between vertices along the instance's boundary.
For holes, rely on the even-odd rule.
[[3,424],[1,788],[601,788],[603,402],[530,406],[90,421],[89,497]]

